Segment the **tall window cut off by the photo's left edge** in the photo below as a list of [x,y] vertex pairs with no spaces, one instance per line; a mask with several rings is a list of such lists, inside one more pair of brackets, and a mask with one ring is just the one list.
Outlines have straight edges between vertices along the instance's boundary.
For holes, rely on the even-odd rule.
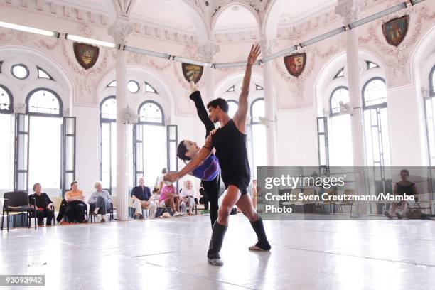
[[13,112],[12,94],[7,87],[0,85],[0,193],[14,189]]

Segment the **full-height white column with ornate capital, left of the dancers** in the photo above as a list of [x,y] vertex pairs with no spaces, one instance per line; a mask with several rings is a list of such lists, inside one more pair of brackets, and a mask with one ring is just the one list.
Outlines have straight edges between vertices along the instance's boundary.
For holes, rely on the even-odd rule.
[[[115,43],[125,45],[127,37],[133,29],[127,22],[116,21],[109,28],[109,34],[114,38]],[[128,219],[129,199],[129,159],[128,159],[128,126],[124,124],[124,112],[127,109],[127,63],[126,52],[117,50],[117,219]]]

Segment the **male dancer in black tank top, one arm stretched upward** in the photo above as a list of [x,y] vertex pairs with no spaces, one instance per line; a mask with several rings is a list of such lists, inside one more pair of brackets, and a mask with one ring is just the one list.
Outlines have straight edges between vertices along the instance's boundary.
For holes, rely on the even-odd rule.
[[222,98],[211,101],[207,107],[209,117],[213,122],[220,122],[220,128],[213,136],[208,136],[205,145],[200,149],[196,159],[193,159],[178,173],[170,173],[165,176],[168,181],[176,181],[200,165],[216,149],[222,180],[227,188],[227,195],[222,200],[218,213],[218,220],[213,225],[213,233],[208,249],[208,262],[215,266],[222,266],[220,249],[228,227],[228,218],[234,205],[237,205],[242,213],[251,222],[252,228],[258,237],[258,242],[250,250],[268,251],[271,247],[267,241],[266,232],[262,219],[257,215],[252,206],[252,200],[247,194],[247,186],[250,181],[250,169],[246,151],[246,119],[248,111],[248,93],[251,82],[252,65],[260,54],[259,45],[252,45],[247,58],[245,77],[243,78],[242,92],[239,97],[239,108],[231,119],[228,112],[228,103]]

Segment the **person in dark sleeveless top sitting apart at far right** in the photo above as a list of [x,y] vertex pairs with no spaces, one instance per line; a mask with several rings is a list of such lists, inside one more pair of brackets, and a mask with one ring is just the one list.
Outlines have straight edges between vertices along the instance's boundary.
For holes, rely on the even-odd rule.
[[[415,200],[418,201],[418,195],[417,195],[417,189],[415,188],[415,183],[408,180],[409,178],[409,171],[408,169],[402,169],[400,171],[400,178],[402,178],[401,181],[397,182],[394,185],[393,193],[394,195],[414,195],[416,198]],[[384,215],[387,218],[392,219],[394,214],[397,216],[397,218],[402,219],[402,214],[397,213],[397,208],[402,208],[402,213],[407,212],[408,203],[406,200],[402,200],[401,202],[392,202],[390,207],[390,212],[385,211]]]

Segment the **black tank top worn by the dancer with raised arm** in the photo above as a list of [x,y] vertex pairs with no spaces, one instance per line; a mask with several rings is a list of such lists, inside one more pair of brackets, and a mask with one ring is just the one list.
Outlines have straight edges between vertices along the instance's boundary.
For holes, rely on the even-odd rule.
[[247,158],[246,135],[237,129],[234,121],[230,119],[224,127],[220,127],[212,136],[212,141],[223,181],[226,183],[237,178],[245,178],[249,183],[251,169]]

